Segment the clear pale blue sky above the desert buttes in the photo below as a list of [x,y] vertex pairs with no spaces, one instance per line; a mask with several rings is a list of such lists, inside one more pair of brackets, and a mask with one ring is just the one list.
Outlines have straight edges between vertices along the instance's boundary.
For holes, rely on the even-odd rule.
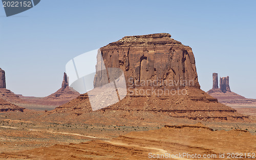
[[0,67],[7,88],[47,96],[61,87],[66,63],[124,36],[169,33],[189,45],[199,83],[229,75],[232,91],[256,98],[256,1],[42,0],[6,17],[0,7]]

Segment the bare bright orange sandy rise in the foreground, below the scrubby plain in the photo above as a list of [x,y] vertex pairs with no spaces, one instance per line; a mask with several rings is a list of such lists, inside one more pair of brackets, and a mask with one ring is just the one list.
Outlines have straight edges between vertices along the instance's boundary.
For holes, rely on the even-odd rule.
[[[57,134],[57,133],[55,133]],[[249,140],[249,141],[248,141]],[[246,143],[245,143],[246,142]],[[0,154],[1,158],[28,159],[146,159],[149,153],[211,154],[255,153],[256,137],[245,130],[213,131],[202,124],[163,127],[130,132],[112,140],[92,140],[84,143],[60,144],[32,150]],[[161,159],[161,158],[160,158]],[[191,159],[173,157],[170,159]],[[242,159],[246,159],[243,157]]]

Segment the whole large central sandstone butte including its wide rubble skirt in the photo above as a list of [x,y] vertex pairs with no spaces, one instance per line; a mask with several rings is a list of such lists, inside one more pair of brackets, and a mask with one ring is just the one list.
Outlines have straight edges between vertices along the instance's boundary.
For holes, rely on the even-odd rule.
[[[127,95],[115,104],[92,111],[88,94],[85,93],[57,107],[49,114],[72,113],[80,116],[89,112],[104,115],[111,112],[116,112],[116,114],[122,112],[123,115],[151,112],[159,116],[168,115],[203,121],[248,120],[248,116],[241,115],[229,106],[219,103],[216,98],[200,89],[193,51],[189,46],[185,46],[170,37],[170,34],[167,33],[126,36],[101,47],[100,54],[105,67],[120,68],[124,72],[126,87],[129,89]],[[101,82],[105,80],[99,78],[100,74],[101,72],[97,71],[95,75],[94,85],[96,87],[105,83]],[[186,83],[179,86],[165,86],[164,84],[144,86],[141,84],[143,80],[154,79]],[[134,86],[133,82],[140,85]],[[186,94],[163,94],[160,96],[134,94],[136,89],[163,89],[164,87],[176,90],[184,89]],[[125,116],[123,117],[125,118]]]

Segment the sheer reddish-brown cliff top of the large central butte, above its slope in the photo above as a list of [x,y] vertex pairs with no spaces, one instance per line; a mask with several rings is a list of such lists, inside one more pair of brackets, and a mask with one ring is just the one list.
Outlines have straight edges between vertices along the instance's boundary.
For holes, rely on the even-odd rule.
[[[200,88],[192,49],[170,38],[170,34],[126,36],[101,47],[99,54],[106,68],[123,70],[127,85],[151,81]],[[99,65],[96,69],[101,68]],[[96,72],[95,87],[108,79],[101,71]]]

